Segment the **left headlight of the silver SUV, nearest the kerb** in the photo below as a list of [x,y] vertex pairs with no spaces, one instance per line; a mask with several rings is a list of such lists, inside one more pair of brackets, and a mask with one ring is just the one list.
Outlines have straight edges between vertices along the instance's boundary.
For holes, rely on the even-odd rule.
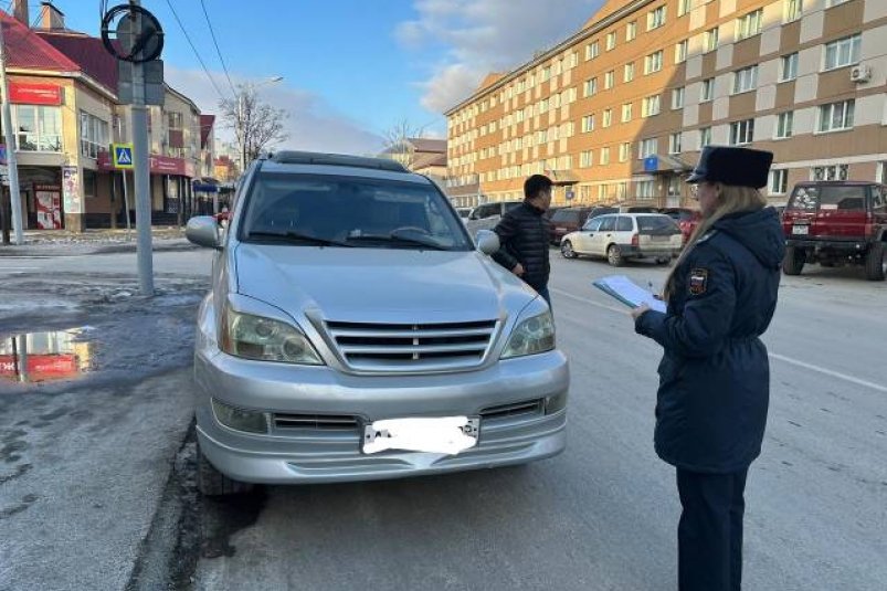
[[226,308],[222,316],[221,349],[235,357],[303,366],[323,366],[302,330],[263,316]]

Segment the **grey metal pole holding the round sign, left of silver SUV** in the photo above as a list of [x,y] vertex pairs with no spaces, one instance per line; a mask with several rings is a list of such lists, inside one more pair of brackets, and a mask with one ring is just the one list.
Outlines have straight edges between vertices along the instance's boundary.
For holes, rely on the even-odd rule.
[[[130,0],[139,6],[139,0]],[[141,17],[135,30],[140,30]],[[148,108],[145,106],[145,67],[133,64],[133,160],[136,188],[136,255],[141,295],[154,295],[154,260],[151,257],[151,178],[148,143]]]

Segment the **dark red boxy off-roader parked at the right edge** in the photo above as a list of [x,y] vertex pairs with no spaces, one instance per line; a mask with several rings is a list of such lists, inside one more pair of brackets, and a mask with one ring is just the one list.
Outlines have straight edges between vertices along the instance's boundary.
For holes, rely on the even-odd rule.
[[862,265],[866,278],[887,274],[887,186],[864,181],[813,181],[794,186],[782,214],[782,271],[800,275],[806,263]]

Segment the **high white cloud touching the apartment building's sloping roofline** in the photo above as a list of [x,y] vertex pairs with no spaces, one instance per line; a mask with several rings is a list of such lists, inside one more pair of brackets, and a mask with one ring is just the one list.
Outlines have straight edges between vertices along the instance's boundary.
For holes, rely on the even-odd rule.
[[471,96],[489,72],[507,72],[534,52],[566,40],[604,0],[415,0],[419,18],[394,31],[406,49],[443,43],[443,61],[431,65],[422,106],[442,113]]

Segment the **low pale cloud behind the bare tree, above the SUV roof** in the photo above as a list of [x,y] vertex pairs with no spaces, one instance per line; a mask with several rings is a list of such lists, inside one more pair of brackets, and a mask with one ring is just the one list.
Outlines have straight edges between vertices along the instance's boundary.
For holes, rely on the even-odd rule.
[[[224,92],[228,88],[224,74],[211,74]],[[202,70],[180,70],[166,65],[165,77],[170,86],[193,101],[202,113],[219,115],[219,95]],[[249,81],[232,76],[234,84],[256,84],[262,80],[264,78],[261,76]],[[285,80],[263,86],[257,92],[264,102],[289,114],[285,126],[289,138],[277,148],[356,155],[378,154],[382,149],[382,138],[379,135],[337,113],[319,95],[287,86]],[[233,133],[218,118],[215,135],[223,141],[233,139]]]

